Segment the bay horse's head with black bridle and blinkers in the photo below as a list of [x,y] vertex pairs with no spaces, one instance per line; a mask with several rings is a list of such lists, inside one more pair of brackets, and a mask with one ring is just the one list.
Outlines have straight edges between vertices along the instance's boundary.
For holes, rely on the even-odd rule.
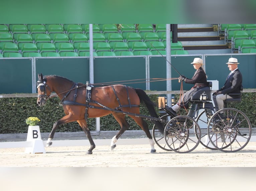
[[45,101],[48,99],[48,97],[51,94],[51,91],[49,87],[46,85],[47,80],[43,78],[42,73],[38,74],[38,81],[36,82],[37,85],[37,104],[39,106],[42,106],[45,104]]

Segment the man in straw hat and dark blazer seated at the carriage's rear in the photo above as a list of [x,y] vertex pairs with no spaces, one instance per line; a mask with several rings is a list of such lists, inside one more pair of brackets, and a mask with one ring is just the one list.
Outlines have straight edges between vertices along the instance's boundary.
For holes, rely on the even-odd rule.
[[[230,58],[228,68],[231,71],[226,79],[224,86],[213,93],[213,102],[215,104],[216,111],[223,109],[224,100],[227,98],[238,98],[240,95],[228,95],[230,93],[240,93],[242,86],[242,74],[238,70],[238,62],[236,58]],[[224,115],[220,112],[220,115]]]

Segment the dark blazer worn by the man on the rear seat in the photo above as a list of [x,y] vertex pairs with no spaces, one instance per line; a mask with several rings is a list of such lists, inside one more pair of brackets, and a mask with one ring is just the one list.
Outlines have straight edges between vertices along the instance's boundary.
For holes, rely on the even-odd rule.
[[[242,86],[242,74],[236,69],[233,74],[226,80],[224,86],[219,90],[222,94],[230,94],[230,93],[240,93],[240,88]],[[237,96],[231,96],[236,98]],[[239,96],[238,96],[239,97]]]

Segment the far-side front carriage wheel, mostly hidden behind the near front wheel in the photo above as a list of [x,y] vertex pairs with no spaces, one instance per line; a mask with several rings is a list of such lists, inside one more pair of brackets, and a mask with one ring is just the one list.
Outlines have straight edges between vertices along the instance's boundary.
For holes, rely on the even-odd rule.
[[[160,119],[165,120],[164,122],[161,122],[161,124],[163,125],[163,127],[165,127],[165,125],[168,123],[168,121],[171,119],[170,115],[166,114],[160,117]],[[164,140],[164,136],[163,133],[160,132],[156,125],[154,124],[153,129],[152,129],[152,134],[153,134],[153,139],[155,141],[155,143],[163,150],[166,151],[172,151],[165,143]]]

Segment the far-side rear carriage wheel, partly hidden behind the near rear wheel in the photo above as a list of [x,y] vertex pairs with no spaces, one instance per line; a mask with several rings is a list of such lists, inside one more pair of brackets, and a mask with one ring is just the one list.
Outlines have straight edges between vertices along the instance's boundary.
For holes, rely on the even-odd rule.
[[[211,143],[210,139],[208,138],[208,133],[207,133],[207,127],[208,127],[208,122],[210,120],[210,114],[206,114],[206,110],[203,110],[197,117],[196,121],[198,122],[200,129],[201,129],[201,140],[200,143],[211,150],[217,150],[215,146]],[[195,126],[196,127],[196,126]],[[194,128],[196,132],[196,137],[198,137],[197,133],[197,128]]]

